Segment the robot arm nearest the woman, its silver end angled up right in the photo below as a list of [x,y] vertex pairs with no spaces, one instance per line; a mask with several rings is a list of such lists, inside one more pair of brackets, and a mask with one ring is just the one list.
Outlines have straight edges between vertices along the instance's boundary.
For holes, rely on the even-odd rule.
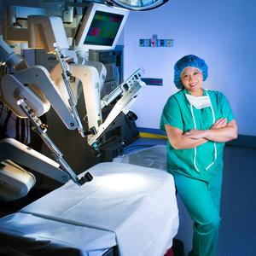
[[[97,154],[100,146],[100,137],[107,131],[108,126],[113,123],[119,113],[130,113],[132,103],[145,85],[141,80],[143,70],[138,69],[129,79],[126,79],[124,83],[119,84],[115,90],[101,99],[101,88],[104,83],[103,78],[106,77],[106,68],[102,63],[83,61],[83,64],[71,63],[68,65],[68,68],[72,76],[78,79],[82,84],[89,127],[89,129],[84,132],[87,136],[88,144]],[[60,69],[60,65],[57,65],[50,72],[55,81],[60,81],[58,84],[59,88],[63,87],[63,81],[60,79]],[[108,117],[103,120],[102,108],[108,106],[118,97],[119,100],[115,102],[111,112],[108,113]]]

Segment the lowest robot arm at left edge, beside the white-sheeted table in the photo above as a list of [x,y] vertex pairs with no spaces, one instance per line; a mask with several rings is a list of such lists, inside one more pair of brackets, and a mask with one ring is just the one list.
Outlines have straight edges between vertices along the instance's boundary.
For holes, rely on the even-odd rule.
[[60,183],[67,183],[70,179],[67,172],[60,169],[60,164],[13,138],[0,141],[0,162],[0,201],[17,200],[25,196],[36,183],[32,172],[20,166],[26,166]]

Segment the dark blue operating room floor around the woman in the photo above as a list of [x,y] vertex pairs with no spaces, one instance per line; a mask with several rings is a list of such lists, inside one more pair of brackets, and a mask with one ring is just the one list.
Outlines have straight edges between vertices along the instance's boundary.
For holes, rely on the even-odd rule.
[[[126,151],[164,140],[140,139]],[[218,253],[216,256],[256,255],[256,148],[226,146]],[[192,246],[192,221],[177,195],[180,226],[176,238],[183,241],[184,255]],[[182,256],[182,255],[175,255]]]

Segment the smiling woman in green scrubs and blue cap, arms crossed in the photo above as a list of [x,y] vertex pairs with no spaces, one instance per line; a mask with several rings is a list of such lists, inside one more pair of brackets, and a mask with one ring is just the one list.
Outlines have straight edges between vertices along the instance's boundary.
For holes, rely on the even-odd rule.
[[230,104],[219,91],[206,90],[208,67],[195,55],[174,66],[179,90],[166,102],[160,128],[167,133],[167,168],[194,220],[189,255],[212,256],[218,244],[224,143],[237,137]]

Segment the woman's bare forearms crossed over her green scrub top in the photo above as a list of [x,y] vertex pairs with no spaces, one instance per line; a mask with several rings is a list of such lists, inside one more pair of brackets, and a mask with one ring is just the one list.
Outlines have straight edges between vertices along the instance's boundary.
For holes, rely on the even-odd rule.
[[173,148],[195,148],[208,141],[226,143],[237,137],[236,120],[218,119],[209,130],[190,130],[183,133],[171,125],[165,125],[167,137]]

